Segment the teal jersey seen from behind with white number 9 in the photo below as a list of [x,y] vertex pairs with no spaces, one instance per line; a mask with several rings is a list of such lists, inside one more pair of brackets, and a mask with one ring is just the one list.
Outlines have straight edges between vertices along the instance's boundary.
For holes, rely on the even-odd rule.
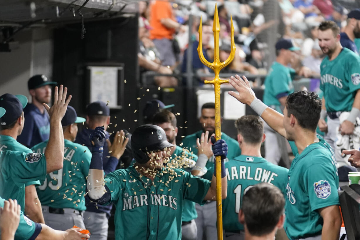
[[[43,153],[48,141],[32,147]],[[37,187],[37,196],[42,205],[52,208],[73,208],[86,210],[86,177],[89,173],[91,152],[89,148],[65,139],[64,166],[46,175],[45,181]]]

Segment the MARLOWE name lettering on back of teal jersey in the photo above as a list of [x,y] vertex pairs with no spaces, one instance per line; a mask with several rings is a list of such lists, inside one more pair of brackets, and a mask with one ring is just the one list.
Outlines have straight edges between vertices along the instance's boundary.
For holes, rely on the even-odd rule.
[[226,169],[226,175],[228,176],[228,181],[234,179],[248,179],[248,180],[255,180],[261,182],[271,183],[274,180],[274,177],[278,177],[278,174],[271,172],[266,169],[256,168],[255,174],[251,174],[251,167],[248,166],[232,166],[231,172]]

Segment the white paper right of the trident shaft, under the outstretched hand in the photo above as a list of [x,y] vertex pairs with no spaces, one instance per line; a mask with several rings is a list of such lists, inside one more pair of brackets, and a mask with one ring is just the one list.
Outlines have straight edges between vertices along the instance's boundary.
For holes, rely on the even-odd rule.
[[239,102],[236,98],[229,95],[229,92],[224,93],[224,119],[238,119],[245,115],[245,105]]

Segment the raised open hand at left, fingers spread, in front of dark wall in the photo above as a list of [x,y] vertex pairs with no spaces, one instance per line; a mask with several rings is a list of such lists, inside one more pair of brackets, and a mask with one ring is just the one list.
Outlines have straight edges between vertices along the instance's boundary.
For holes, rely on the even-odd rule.
[[66,108],[71,100],[71,95],[66,99],[66,94],[67,88],[64,88],[63,85],[60,85],[59,88],[55,86],[53,106],[50,108],[46,103],[43,103],[46,111],[48,111],[50,115],[50,119],[61,120],[65,115]]

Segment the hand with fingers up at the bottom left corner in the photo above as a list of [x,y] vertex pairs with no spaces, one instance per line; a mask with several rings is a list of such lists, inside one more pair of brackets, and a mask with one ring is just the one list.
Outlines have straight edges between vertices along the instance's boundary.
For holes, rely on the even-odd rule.
[[1,239],[13,239],[20,222],[20,205],[17,200],[4,201],[4,208],[0,208]]

